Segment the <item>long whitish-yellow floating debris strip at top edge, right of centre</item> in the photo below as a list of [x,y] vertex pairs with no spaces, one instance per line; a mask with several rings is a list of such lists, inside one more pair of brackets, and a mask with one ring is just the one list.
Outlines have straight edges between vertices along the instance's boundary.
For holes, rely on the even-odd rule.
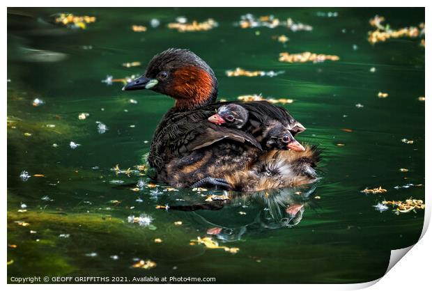
[[275,29],[277,26],[285,26],[291,31],[311,31],[313,29],[312,26],[302,24],[301,22],[296,23],[291,18],[279,20],[279,18],[276,18],[274,15],[255,17],[250,13],[242,15],[238,25],[242,29],[252,29],[256,27],[268,27],[269,29]]

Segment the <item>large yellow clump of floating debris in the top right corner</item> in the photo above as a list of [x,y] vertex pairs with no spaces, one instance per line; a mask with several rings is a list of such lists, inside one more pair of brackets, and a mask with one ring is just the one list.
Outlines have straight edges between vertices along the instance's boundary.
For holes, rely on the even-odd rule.
[[[419,38],[424,36],[424,23],[419,24],[418,27],[409,26],[394,30],[390,28],[389,24],[384,26],[384,21],[385,18],[379,15],[369,20],[369,24],[376,28],[375,31],[368,32],[368,40],[371,44],[385,42],[389,38]],[[424,40],[420,43],[424,43]]]

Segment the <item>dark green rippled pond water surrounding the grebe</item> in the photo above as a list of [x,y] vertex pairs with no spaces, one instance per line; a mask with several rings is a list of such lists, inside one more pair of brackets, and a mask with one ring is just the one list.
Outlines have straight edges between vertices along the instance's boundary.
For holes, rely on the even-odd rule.
[[[54,26],[49,15],[61,12],[94,15],[97,21],[86,30]],[[338,14],[323,17],[320,12]],[[291,17],[314,29],[234,26],[245,13]],[[420,38],[369,44],[369,19],[376,14],[385,16],[392,28],[424,22],[423,9],[406,8],[10,8],[8,277],[360,283],[383,276],[390,250],[417,242],[423,226],[423,210],[396,215],[391,210],[380,213],[373,205],[384,199],[424,199],[424,102],[417,99],[424,96],[424,47]],[[219,26],[189,33],[167,29],[178,16],[199,21],[212,17]],[[153,18],[161,22],[155,29],[150,26]],[[145,25],[147,31],[134,32],[133,24]],[[272,38],[282,34],[289,38],[285,44]],[[163,191],[164,185],[157,188],[160,193],[154,188],[135,192],[111,184],[143,178],[116,175],[111,168],[141,164],[153,130],[173,101],[152,92],[123,92],[123,84],[107,86],[101,80],[142,73],[146,62],[168,47],[190,48],[207,61],[219,80],[219,97],[226,100],[254,93],[293,99],[284,106],[307,127],[298,139],[323,149],[322,179],[314,193],[284,189],[238,194],[212,209],[165,211],[156,205],[190,210],[188,205],[203,205],[209,192]],[[304,51],[337,55],[340,61],[278,61],[280,52]],[[140,61],[141,67],[121,65],[132,61]],[[284,74],[226,77],[226,70],[237,67]],[[378,98],[380,91],[389,97]],[[36,97],[45,103],[33,107]],[[80,113],[89,115],[79,120]],[[101,133],[96,122],[107,130]],[[81,146],[72,149],[71,141]],[[23,181],[22,171],[31,177]],[[410,183],[422,185],[394,189]],[[360,192],[378,186],[387,193]],[[18,212],[21,203],[26,212]],[[293,219],[286,214],[288,205],[301,207]],[[128,222],[140,214],[153,218],[150,228]],[[209,228],[221,234],[206,235]],[[239,250],[191,245],[197,237],[213,237],[219,245]],[[132,267],[137,260],[157,266],[137,269]]]

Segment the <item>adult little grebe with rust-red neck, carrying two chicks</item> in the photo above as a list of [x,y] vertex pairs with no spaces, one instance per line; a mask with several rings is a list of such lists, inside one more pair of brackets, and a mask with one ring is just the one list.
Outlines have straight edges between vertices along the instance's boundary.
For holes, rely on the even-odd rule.
[[[300,177],[301,184],[314,181],[311,173],[318,160],[314,148],[304,151],[304,155],[291,155],[292,151],[263,152],[253,132],[219,127],[208,121],[221,106],[215,103],[217,79],[207,63],[189,50],[167,49],[154,56],[146,72],[123,88],[126,91],[140,89],[150,89],[176,100],[157,126],[148,155],[158,181],[173,187],[210,184],[252,191],[251,187],[242,187],[239,179],[245,175],[250,175],[250,179],[259,177],[258,166],[265,169],[263,175],[268,175],[269,171],[277,171],[273,166],[281,165],[295,168],[290,175]],[[248,123],[262,124],[267,116],[296,123],[286,110],[269,102],[238,103],[249,112]],[[302,130],[304,127],[298,123],[297,132]],[[297,160],[303,162],[296,164]],[[287,172],[283,172],[286,179]],[[290,180],[300,181],[293,177]],[[284,187],[286,183],[279,182],[279,185],[276,186]]]

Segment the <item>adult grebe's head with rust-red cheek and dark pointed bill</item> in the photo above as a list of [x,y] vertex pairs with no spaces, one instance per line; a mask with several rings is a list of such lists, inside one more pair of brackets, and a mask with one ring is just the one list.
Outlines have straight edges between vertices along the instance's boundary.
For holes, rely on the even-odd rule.
[[152,91],[176,99],[179,109],[192,109],[215,102],[217,79],[210,66],[188,49],[167,49],[153,56],[146,72],[123,90]]

